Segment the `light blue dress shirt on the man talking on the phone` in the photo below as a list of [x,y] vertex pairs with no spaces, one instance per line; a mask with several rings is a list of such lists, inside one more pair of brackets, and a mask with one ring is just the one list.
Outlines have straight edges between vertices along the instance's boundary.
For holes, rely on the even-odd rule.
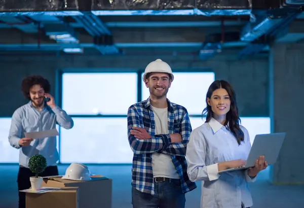
[[29,158],[35,154],[43,155],[47,159],[48,166],[56,165],[59,159],[56,136],[33,140],[27,147],[19,146],[19,140],[25,137],[25,132],[54,129],[56,124],[65,129],[70,129],[74,125],[72,118],[58,106],[51,109],[45,104],[45,107],[38,111],[29,101],[14,112],[9,132],[9,142],[12,147],[20,149],[19,164],[21,166],[28,167]]

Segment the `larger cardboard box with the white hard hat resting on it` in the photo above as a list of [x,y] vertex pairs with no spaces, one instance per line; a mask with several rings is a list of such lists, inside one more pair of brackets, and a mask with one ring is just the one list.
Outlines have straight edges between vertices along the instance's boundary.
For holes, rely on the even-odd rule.
[[[91,181],[72,181],[61,177],[44,178],[42,187],[78,187],[78,208],[111,208],[112,180],[92,177]],[[55,207],[55,206],[54,206]],[[58,208],[58,207],[56,207]]]

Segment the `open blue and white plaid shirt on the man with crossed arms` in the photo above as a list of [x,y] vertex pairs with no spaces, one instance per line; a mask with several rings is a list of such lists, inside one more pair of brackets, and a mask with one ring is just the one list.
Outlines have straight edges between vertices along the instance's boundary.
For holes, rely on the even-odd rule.
[[[132,186],[137,190],[154,195],[154,180],[152,170],[152,153],[171,155],[172,162],[180,178],[183,193],[197,188],[187,175],[185,158],[186,146],[192,128],[187,110],[175,103],[168,102],[168,134],[155,134],[154,113],[150,107],[150,100],[138,102],[128,110],[128,139],[133,156]],[[139,140],[130,134],[132,127],[145,128],[151,135],[147,140]],[[170,133],[180,133],[182,142],[172,143]]]

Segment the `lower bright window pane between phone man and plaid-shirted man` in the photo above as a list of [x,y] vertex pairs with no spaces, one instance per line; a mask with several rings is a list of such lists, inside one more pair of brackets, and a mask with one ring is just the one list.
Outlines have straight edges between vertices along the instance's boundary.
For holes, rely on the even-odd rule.
[[61,128],[62,163],[132,163],[127,118],[73,118],[74,127]]

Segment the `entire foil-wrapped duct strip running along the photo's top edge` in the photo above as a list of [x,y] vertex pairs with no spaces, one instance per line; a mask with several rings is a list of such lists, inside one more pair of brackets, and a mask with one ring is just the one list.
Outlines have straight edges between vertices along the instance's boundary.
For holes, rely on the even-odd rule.
[[249,15],[251,0],[2,0],[0,15]]

